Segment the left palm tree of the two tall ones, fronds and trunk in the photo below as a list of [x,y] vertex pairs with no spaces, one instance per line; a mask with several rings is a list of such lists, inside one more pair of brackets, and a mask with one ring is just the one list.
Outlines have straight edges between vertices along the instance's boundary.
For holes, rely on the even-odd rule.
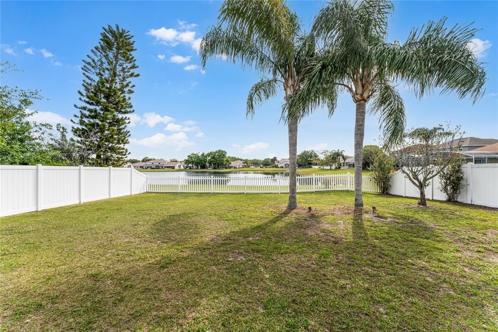
[[[279,86],[284,100],[300,88],[302,77],[315,54],[315,38],[303,35],[296,13],[284,0],[226,0],[218,17],[218,24],[204,36],[200,55],[203,67],[208,57],[226,57],[234,63],[260,71],[262,78],[249,90],[247,115],[253,116],[263,101],[275,96]],[[268,77],[267,77],[268,76]],[[335,95],[322,90],[320,101],[334,108]],[[289,135],[289,202],[297,207],[296,155],[299,116],[289,117],[282,107],[281,118]]]

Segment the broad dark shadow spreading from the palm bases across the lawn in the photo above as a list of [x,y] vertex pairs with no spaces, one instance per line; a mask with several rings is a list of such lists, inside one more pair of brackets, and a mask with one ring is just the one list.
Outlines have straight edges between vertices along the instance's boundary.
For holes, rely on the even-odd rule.
[[[68,277],[60,286],[66,295],[61,303],[34,317],[46,316],[53,324],[48,327],[67,321],[68,329],[87,330],[433,330],[445,326],[444,317],[464,312],[459,302],[431,304],[441,297],[434,285],[439,277],[427,279],[427,263],[436,254],[421,240],[437,243],[440,236],[424,220],[410,218],[406,227],[401,214],[392,222],[355,210],[346,221],[351,238],[333,242],[303,231],[328,216],[275,212],[248,227],[222,227],[216,238],[195,243],[202,218],[169,214],[148,229],[164,242],[142,244],[148,259]],[[173,222],[194,224],[161,232]],[[182,243],[188,245],[181,252],[162,250]],[[135,248],[128,250],[133,255]]]

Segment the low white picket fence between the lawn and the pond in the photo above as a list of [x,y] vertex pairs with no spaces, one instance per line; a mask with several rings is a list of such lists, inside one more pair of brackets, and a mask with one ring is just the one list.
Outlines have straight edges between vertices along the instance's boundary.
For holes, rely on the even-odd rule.
[[[298,175],[297,191],[353,190],[351,173],[334,175]],[[289,191],[289,177],[280,176],[168,176],[149,177],[150,192],[204,193],[282,193]],[[363,191],[379,192],[370,176],[363,176]]]

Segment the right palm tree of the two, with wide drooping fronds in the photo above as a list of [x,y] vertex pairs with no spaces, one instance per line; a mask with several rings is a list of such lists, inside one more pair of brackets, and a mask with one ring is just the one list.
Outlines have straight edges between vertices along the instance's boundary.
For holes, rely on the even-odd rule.
[[[398,141],[405,127],[405,107],[396,90],[404,83],[418,98],[438,89],[456,92],[476,102],[484,94],[483,63],[469,49],[477,29],[469,25],[445,28],[446,18],[414,28],[406,41],[386,41],[388,0],[332,0],[315,18],[312,31],[321,50],[299,93],[290,102],[291,116],[305,116],[317,105],[324,85],[349,93],[356,104],[355,207],[363,207],[362,161],[366,105],[379,116],[386,144]],[[340,79],[337,79],[340,77]]]

